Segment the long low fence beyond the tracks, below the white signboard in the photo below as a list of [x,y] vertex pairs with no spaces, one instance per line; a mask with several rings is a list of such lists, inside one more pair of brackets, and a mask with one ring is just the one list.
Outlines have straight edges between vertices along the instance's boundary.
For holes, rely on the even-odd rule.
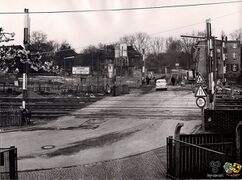
[[[131,83],[132,82],[132,83]],[[116,86],[121,93],[127,93],[127,86],[138,87],[135,80],[117,77]],[[47,79],[30,78],[28,81],[28,90],[42,93],[105,93],[108,88],[112,87],[112,80],[105,77],[69,77],[66,79],[55,79],[55,77]]]

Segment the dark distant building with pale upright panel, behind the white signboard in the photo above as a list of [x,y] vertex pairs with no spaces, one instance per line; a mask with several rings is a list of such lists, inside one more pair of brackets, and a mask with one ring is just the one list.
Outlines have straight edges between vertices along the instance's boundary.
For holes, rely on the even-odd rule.
[[135,69],[142,67],[142,63],[141,53],[133,46],[122,44],[107,45],[103,49],[78,54],[71,66],[88,66],[91,67],[91,74],[107,75],[108,65],[115,64],[116,74],[122,76],[132,75]]

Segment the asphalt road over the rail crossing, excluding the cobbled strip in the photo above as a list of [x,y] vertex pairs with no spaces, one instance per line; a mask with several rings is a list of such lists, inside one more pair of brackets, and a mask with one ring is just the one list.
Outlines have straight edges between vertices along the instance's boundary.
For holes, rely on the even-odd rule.
[[27,131],[0,134],[1,147],[18,148],[18,169],[46,169],[123,158],[166,145],[177,123],[182,133],[201,124],[191,91],[140,90],[96,103]]

